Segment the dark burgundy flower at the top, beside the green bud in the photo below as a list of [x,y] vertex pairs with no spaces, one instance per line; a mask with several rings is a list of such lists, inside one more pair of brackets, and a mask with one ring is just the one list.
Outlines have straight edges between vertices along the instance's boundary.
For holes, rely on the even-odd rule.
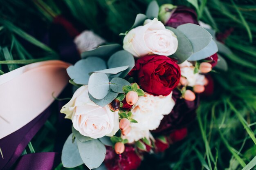
[[171,17],[166,22],[165,26],[177,28],[178,26],[187,23],[199,25],[197,20],[198,16],[193,9],[185,6],[178,6],[176,9],[173,10],[174,12],[171,14]]

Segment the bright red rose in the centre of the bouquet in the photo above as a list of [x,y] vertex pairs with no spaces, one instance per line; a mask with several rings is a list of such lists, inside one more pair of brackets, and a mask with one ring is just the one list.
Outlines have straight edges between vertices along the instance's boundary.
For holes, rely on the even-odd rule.
[[147,93],[167,96],[179,84],[180,67],[163,55],[147,55],[135,62],[129,73]]

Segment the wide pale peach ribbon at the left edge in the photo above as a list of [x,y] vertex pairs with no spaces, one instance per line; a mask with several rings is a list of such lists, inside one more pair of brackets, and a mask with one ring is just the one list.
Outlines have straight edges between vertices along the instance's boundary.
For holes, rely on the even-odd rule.
[[28,124],[54,101],[68,82],[58,60],[38,62],[0,76],[0,139]]

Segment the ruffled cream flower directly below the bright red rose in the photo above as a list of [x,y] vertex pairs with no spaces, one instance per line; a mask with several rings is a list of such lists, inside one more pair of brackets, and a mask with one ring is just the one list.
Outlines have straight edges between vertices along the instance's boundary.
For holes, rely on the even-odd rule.
[[149,130],[155,130],[164,115],[168,115],[175,105],[172,99],[172,93],[168,96],[154,96],[145,93],[139,97],[138,102],[132,106],[132,119],[138,123],[131,123],[131,131],[124,139],[128,139],[129,143],[138,141],[141,138],[149,137]]

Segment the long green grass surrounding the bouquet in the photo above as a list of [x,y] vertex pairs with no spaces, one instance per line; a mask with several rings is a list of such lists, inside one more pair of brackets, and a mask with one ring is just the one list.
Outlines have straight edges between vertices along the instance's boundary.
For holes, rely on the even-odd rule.
[[[63,13],[78,20],[84,29],[92,29],[109,42],[122,42],[119,33],[130,28],[137,13],[144,13],[151,0],[65,0],[44,1],[49,8],[38,9],[23,1],[0,1],[0,74],[10,66],[50,60],[58,57],[52,49],[29,36],[25,31],[29,18],[18,20],[22,9],[25,14],[49,25],[52,15]],[[190,4],[196,2],[196,4]],[[255,0],[158,0],[159,4],[184,4],[197,7],[200,20],[216,31],[234,28],[225,43],[232,54],[222,54],[228,62],[227,72],[211,73],[215,81],[214,95],[201,100],[198,117],[189,126],[189,134],[173,144],[164,154],[146,155],[140,169],[144,170],[256,170],[256,1]],[[42,1],[38,1],[42,2]],[[85,10],[86,9],[86,10]],[[22,15],[22,16],[23,16]],[[18,36],[40,47],[42,55],[27,51]],[[12,58],[6,58],[2,49],[7,47]],[[7,54],[8,55],[8,54]],[[5,57],[4,57],[5,56]],[[32,139],[26,152],[53,151],[57,113],[52,114],[45,126]],[[64,170],[60,164],[55,170]],[[84,166],[71,170],[82,170]]]

